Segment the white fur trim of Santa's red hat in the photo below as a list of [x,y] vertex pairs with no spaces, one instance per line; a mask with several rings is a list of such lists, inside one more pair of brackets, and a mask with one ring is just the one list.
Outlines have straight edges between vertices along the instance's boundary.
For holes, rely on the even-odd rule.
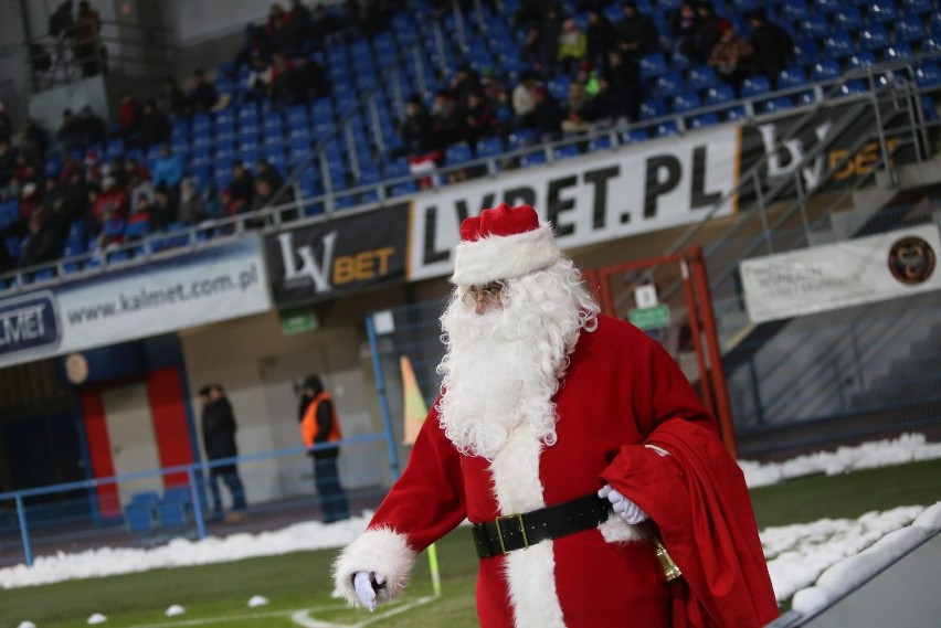
[[548,222],[539,228],[505,236],[462,242],[454,255],[453,284],[484,286],[515,279],[551,266],[562,257]]

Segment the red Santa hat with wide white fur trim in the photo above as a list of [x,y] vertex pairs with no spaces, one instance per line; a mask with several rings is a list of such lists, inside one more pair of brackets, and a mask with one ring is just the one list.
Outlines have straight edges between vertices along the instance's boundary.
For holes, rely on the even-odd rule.
[[562,258],[552,227],[529,205],[500,203],[461,223],[452,283],[484,286],[515,279]]

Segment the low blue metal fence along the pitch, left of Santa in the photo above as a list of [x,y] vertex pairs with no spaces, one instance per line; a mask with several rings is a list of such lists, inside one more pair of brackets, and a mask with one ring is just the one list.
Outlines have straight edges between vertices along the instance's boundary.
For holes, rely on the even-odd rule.
[[[339,443],[338,479],[352,514],[376,508],[398,475],[395,451],[387,446],[390,432]],[[331,504],[316,491],[308,454],[325,448],[292,447],[0,493],[0,567],[32,565],[59,552],[151,546],[177,537],[257,533],[323,520]],[[216,513],[209,485],[233,467],[247,507],[236,509],[232,485],[222,477],[223,512]]]

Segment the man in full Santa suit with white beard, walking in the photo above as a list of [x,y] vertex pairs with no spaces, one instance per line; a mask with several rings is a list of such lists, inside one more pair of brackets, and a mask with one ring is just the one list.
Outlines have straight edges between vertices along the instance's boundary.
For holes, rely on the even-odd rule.
[[[338,592],[370,610],[465,518],[484,627],[751,627],[778,606],[748,490],[669,355],[599,307],[548,223],[461,225],[442,394]],[[654,534],[683,575],[665,582]]]

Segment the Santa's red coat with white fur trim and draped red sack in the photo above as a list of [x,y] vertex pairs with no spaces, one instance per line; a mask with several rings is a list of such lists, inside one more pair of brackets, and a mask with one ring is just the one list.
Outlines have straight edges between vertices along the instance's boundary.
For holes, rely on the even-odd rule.
[[[626,322],[599,317],[594,332],[582,332],[554,401],[558,443],[540,447],[528,429],[517,429],[493,462],[461,455],[432,409],[369,530],[338,558],[337,584],[348,599],[356,600],[349,581],[359,570],[389,578],[380,600],[398,594],[405,582],[400,572],[408,575],[414,554],[465,517],[482,522],[526,512],[586,496],[609,481],[628,497],[636,493],[664,529],[668,549],[679,540],[681,549],[670,552],[679,554],[674,558],[689,570],[694,586],[660,584],[651,544],[613,515],[595,529],[482,560],[482,626],[750,627],[778,615],[743,478],[730,471],[738,467],[725,454],[715,421],[659,344]],[[697,446],[709,446],[720,465],[716,473],[687,460],[688,448],[677,445],[687,432],[695,433]],[[641,447],[648,443],[670,457]],[[698,490],[689,492],[690,486]],[[662,519],[670,517],[676,521]],[[713,547],[725,531],[731,539]],[[737,558],[740,547],[748,560]],[[467,551],[474,551],[469,533]],[[725,568],[726,561],[736,568]]]

